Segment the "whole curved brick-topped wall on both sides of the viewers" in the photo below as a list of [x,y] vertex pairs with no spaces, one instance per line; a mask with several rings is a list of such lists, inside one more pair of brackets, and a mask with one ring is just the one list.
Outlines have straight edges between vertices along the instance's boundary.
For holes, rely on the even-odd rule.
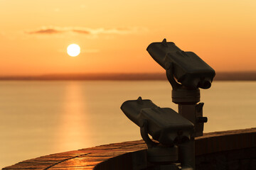
[[[29,159],[4,169],[144,168],[143,140],[102,145]],[[196,138],[196,169],[256,169],[256,128],[210,132]]]

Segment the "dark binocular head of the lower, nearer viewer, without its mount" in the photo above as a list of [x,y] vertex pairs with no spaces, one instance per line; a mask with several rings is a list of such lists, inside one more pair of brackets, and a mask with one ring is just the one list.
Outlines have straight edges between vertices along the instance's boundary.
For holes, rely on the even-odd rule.
[[186,142],[194,132],[194,125],[189,120],[171,108],[159,108],[150,100],[125,101],[121,109],[140,128],[146,120],[149,135],[163,145]]

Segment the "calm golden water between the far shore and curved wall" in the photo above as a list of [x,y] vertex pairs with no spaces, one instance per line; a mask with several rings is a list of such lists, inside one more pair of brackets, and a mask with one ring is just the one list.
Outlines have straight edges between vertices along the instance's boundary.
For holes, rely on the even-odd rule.
[[[173,108],[167,81],[0,81],[0,168],[25,159],[140,140],[120,110],[151,99]],[[201,90],[204,132],[256,127],[256,81],[215,81]]]

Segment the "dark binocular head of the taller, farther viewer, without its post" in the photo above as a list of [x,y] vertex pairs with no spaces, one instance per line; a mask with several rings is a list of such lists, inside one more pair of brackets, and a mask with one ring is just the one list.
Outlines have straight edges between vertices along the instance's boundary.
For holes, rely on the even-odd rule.
[[[149,55],[172,72],[175,79],[188,89],[209,89],[215,77],[215,71],[194,52],[184,52],[174,42],[153,42],[146,48]],[[171,69],[170,69],[171,65]]]

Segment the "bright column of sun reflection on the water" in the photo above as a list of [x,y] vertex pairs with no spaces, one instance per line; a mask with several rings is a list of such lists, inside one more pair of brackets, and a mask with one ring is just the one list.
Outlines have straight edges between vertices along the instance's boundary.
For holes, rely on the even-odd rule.
[[[55,147],[68,151],[91,146],[90,121],[86,108],[86,95],[83,94],[82,85],[78,81],[70,81],[65,86],[63,97],[63,113],[60,113],[58,137]],[[87,138],[85,138],[87,137]]]

